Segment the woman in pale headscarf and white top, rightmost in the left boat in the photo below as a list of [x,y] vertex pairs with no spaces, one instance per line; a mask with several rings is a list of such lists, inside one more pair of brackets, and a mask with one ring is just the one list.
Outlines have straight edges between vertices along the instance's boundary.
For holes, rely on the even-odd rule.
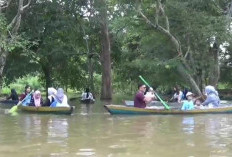
[[55,101],[50,107],[70,107],[68,105],[68,98],[64,94],[64,90],[62,88],[58,88],[55,98]]

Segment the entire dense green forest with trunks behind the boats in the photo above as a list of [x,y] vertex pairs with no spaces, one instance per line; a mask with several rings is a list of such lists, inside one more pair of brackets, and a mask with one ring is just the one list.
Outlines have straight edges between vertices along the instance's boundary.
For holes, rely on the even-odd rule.
[[232,85],[230,0],[0,0],[0,85],[89,86],[103,99],[135,91],[198,95]]

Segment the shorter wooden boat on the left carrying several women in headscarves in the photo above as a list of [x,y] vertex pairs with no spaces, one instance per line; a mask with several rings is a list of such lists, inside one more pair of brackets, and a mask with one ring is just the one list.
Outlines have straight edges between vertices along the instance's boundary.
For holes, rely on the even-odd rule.
[[20,106],[19,109],[23,112],[29,113],[53,113],[53,114],[71,114],[75,109],[71,107],[34,107],[34,106]]

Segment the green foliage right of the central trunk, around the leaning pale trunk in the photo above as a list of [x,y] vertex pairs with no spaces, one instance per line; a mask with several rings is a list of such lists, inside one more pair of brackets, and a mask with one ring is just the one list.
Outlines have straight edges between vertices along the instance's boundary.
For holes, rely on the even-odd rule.
[[[176,71],[180,61],[170,39],[145,23],[136,12],[136,3],[120,2],[118,10],[124,14],[116,16],[111,25],[122,51],[120,57],[117,56],[118,66],[115,69],[119,80],[138,82],[138,75],[142,74],[153,84],[165,88],[185,85]],[[191,71],[188,72],[197,78],[201,77],[199,69],[204,69],[207,79],[213,64],[210,46],[213,43],[220,45],[230,38],[229,21],[224,13],[228,1],[173,0],[162,3],[171,33],[179,40],[184,55],[190,51],[192,60],[187,58],[187,61]],[[126,7],[129,9],[125,10]],[[155,22],[155,7],[155,1],[142,1],[142,11],[151,22]],[[165,27],[162,16],[159,24]]]

